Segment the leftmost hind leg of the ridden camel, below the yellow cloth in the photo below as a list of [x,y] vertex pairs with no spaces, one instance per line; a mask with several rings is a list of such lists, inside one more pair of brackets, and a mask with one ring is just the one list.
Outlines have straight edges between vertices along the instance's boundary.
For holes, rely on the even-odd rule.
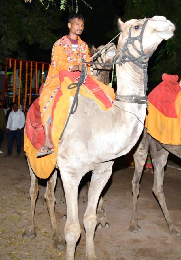
[[35,238],[36,237],[36,231],[35,231],[35,224],[34,224],[34,214],[35,214],[35,203],[36,198],[38,196],[38,179],[35,176],[34,172],[31,169],[31,166],[29,164],[29,160],[27,158],[30,177],[31,177],[31,186],[29,190],[30,198],[31,198],[31,209],[30,209],[30,217],[28,224],[26,226],[26,230],[23,232],[22,237],[23,238]]

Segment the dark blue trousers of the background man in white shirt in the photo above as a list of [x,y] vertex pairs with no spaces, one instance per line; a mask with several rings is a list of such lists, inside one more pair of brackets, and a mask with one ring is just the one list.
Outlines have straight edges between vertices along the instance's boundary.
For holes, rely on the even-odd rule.
[[7,145],[7,149],[8,149],[8,154],[12,155],[12,147],[13,147],[13,138],[16,138],[16,142],[17,142],[17,153],[21,153],[21,130],[17,129],[17,130],[9,130],[8,133],[8,145]]

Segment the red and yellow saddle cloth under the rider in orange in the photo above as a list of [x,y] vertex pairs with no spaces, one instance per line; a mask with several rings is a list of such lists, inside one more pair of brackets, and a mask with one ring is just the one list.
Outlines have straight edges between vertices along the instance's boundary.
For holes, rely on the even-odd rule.
[[[71,83],[77,82],[76,79],[79,76],[80,72],[70,73],[63,70],[59,73],[60,85],[57,87],[52,106],[51,139],[54,144],[52,148],[54,153],[43,157],[36,157],[36,153],[42,148],[45,140],[39,109],[39,98],[34,101],[27,113],[24,131],[24,151],[37,177],[48,178],[56,166],[59,138],[69,113],[70,98],[71,96],[75,96],[76,93],[76,88],[68,89],[68,86]],[[112,88],[103,83],[101,84],[101,82],[95,78],[93,82],[90,76],[86,79],[85,85],[80,87],[79,94],[94,99],[104,111],[112,107],[115,99],[114,90]]]

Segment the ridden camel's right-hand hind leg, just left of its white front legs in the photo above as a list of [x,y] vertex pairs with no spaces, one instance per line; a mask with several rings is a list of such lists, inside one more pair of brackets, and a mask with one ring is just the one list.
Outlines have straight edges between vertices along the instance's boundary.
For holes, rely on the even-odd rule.
[[56,179],[57,179],[57,170],[55,170],[55,172],[47,182],[45,199],[46,199],[46,205],[47,205],[48,213],[50,215],[50,221],[53,229],[53,248],[63,250],[65,248],[65,241],[62,239],[61,234],[58,231],[56,218],[55,218],[56,199],[54,196],[54,188],[56,185]]

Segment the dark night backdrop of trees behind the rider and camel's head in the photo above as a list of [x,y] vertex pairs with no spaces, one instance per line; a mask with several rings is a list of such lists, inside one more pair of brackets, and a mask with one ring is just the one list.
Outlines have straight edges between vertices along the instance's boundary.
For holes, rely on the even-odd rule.
[[[25,3],[24,0],[0,0],[0,59],[6,57],[51,61],[54,42],[69,32],[67,18],[70,10],[60,10],[60,0],[54,4],[44,0]],[[71,1],[67,1],[70,4]],[[149,60],[148,86],[153,88],[163,73],[181,74],[181,1],[180,0],[78,0],[78,13],[85,19],[81,38],[95,47],[108,43],[118,34],[117,21],[142,19],[162,15],[176,25],[174,36],[163,41]],[[76,1],[73,0],[73,7]],[[68,9],[68,8],[67,8]],[[71,10],[72,11],[72,10]],[[117,39],[114,41],[117,43]]]

